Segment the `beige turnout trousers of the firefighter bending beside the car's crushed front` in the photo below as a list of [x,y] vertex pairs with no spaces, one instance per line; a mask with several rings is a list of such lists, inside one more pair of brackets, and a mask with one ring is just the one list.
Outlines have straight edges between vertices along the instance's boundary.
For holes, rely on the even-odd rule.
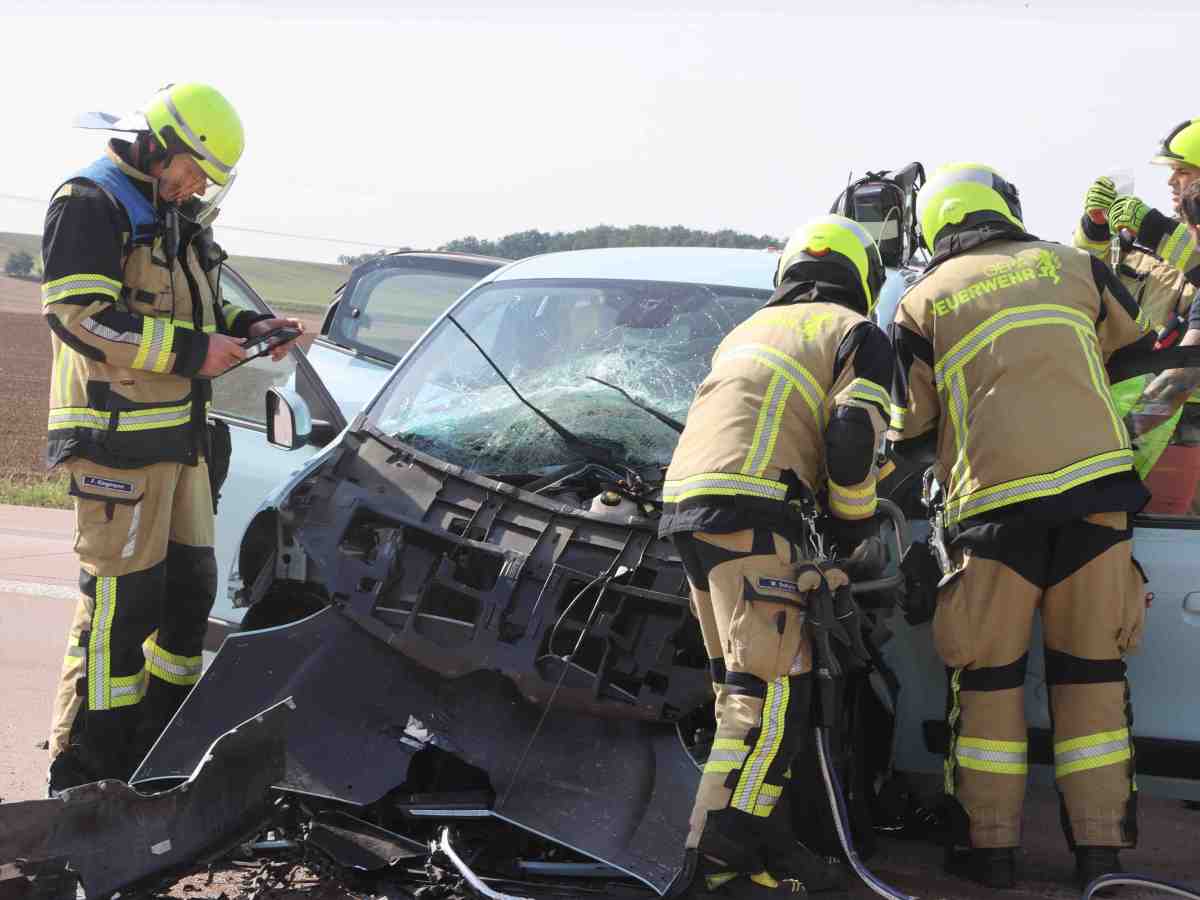
[[[674,535],[688,571],[716,691],[716,734],[686,846],[742,871],[766,869],[770,846],[791,839],[772,818],[792,760],[808,740],[812,650],[808,595],[821,584],[791,542],[766,529]],[[845,583],[827,571],[830,586]]]

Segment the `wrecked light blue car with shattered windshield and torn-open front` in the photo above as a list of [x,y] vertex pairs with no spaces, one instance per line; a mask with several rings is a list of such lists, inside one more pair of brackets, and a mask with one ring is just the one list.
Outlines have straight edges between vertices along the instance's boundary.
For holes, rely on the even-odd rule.
[[[258,419],[217,404],[239,426],[224,640],[133,784],[178,784],[230,728],[287,719],[270,790],[390,841],[384,864],[457,827],[488,874],[667,893],[713,721],[686,580],[658,536],[661,480],[672,422],[775,265],[715,248],[534,257],[467,290],[348,424],[305,359],[227,392]],[[889,274],[886,314],[912,276]],[[1181,797],[1200,739],[1190,524],[1136,522],[1156,601],[1130,666],[1139,786]],[[852,683],[887,722],[856,738],[847,776],[870,803],[898,772],[936,790],[946,673],[928,624],[865,596],[881,659]],[[1027,696],[1031,755],[1049,762],[1040,661]],[[890,754],[870,752],[884,732]]]

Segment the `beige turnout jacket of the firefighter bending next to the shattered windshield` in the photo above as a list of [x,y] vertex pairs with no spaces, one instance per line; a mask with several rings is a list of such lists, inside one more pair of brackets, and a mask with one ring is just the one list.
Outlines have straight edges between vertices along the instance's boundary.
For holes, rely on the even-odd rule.
[[892,352],[875,324],[829,301],[836,292],[785,282],[718,347],[667,469],[662,535],[784,529],[800,482],[827,491],[844,522],[875,515]]

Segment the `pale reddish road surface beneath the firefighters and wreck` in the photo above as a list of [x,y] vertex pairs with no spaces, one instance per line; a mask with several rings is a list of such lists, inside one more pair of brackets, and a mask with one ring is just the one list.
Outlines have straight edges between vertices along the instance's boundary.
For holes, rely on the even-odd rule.
[[[0,506],[0,798],[44,796],[46,750],[64,635],[73,608],[76,563],[71,553],[72,514]],[[1200,767],[1200,763],[1198,763]],[[916,841],[883,841],[870,860],[894,886],[926,900],[1008,898],[1067,900],[1079,894],[1070,883],[1072,857],[1058,829],[1052,791],[1032,790],[1026,803],[1025,847],[1016,890],[991,892],[941,872],[941,851]],[[1174,800],[1141,798],[1141,841],[1124,853],[1127,868],[1154,877],[1200,884],[1200,812]],[[235,870],[209,886],[204,878],[181,882],[173,896],[203,900],[239,893]],[[290,892],[296,896],[300,892]],[[324,892],[324,896],[330,894]],[[858,887],[852,898],[874,896]],[[1127,900],[1160,896],[1127,890]]]

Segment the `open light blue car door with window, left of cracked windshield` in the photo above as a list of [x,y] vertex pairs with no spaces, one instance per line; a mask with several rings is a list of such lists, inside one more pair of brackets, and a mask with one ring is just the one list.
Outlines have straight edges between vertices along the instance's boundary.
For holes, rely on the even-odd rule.
[[308,361],[342,415],[353,419],[433,320],[504,263],[450,253],[392,253],[350,272],[308,350]]

